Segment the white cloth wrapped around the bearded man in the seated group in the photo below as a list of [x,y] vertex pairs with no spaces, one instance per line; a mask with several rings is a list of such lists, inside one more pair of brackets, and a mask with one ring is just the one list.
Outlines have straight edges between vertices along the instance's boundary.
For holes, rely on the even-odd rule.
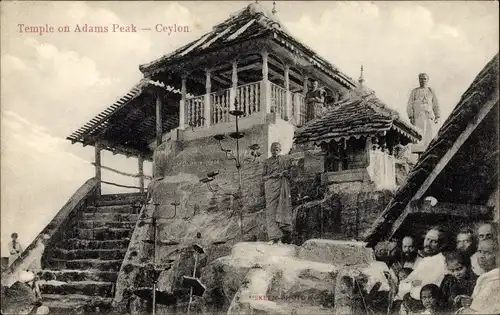
[[[422,258],[408,278],[399,284],[397,299],[402,299],[409,292],[412,298],[420,300],[420,290],[422,287],[430,283],[440,286],[441,281],[443,281],[447,273],[448,269],[446,268],[443,254],[439,253],[434,256]],[[411,282],[413,280],[419,280],[421,284],[417,287],[412,287]]]

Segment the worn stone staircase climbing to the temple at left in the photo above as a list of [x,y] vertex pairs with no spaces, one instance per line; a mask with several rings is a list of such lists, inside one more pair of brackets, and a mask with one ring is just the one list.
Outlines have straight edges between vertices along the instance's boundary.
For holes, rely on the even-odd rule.
[[40,291],[51,314],[111,310],[143,194],[102,195],[46,248]]

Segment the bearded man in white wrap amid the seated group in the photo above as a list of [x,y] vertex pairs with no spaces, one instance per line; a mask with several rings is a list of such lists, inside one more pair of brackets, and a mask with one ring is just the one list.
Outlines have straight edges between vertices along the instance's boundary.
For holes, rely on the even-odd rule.
[[406,309],[411,312],[420,311],[420,290],[426,284],[439,286],[447,273],[442,254],[448,244],[448,234],[440,227],[431,228],[424,239],[422,254],[424,257],[408,277],[399,284],[398,299],[403,299]]

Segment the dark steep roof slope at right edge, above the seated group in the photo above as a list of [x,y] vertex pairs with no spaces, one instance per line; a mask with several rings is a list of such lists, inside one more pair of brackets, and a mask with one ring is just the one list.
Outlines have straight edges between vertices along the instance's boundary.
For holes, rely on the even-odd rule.
[[498,54],[477,75],[448,119],[431,141],[415,167],[368,231],[365,241],[372,247],[383,239],[389,239],[394,222],[403,214],[406,206],[420,186],[435,169],[437,163],[450,150],[469,122],[477,119],[479,111],[487,103],[498,107]]

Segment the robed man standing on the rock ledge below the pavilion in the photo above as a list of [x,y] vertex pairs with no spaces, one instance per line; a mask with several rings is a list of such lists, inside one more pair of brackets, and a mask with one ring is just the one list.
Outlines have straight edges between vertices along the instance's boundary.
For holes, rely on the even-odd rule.
[[266,198],[266,229],[271,244],[292,232],[292,202],[288,179],[289,161],[279,155],[279,142],[271,144],[271,157],[264,163],[262,179]]

